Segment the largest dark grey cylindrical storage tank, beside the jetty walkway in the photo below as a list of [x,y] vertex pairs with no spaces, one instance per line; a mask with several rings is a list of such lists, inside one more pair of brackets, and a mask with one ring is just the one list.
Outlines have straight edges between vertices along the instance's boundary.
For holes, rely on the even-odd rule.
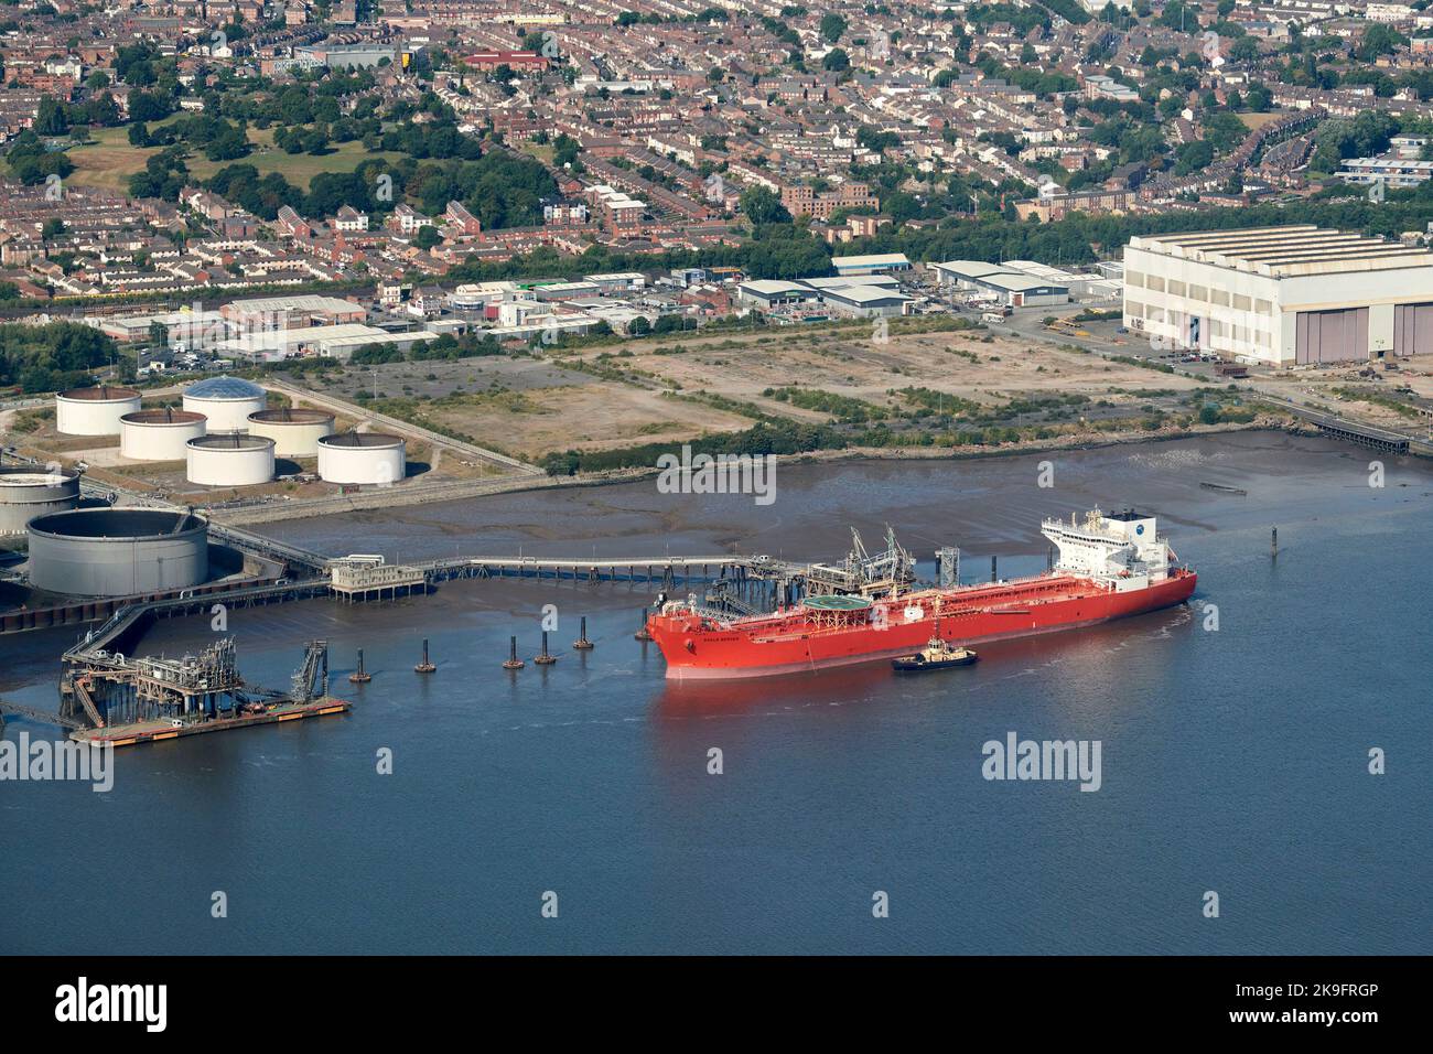
[[183,589],[209,576],[209,523],[189,512],[76,509],[37,516],[30,585],[72,597]]

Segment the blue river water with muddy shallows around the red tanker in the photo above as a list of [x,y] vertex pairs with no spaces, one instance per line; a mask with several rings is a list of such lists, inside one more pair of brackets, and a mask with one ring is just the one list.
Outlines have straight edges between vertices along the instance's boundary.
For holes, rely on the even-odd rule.
[[[1386,459],[1374,488],[1371,459],[1238,433],[781,467],[771,506],[648,480],[268,525],[390,559],[833,559],[848,525],[876,549],[888,522],[923,572],[957,543],[980,578],[990,555],[1002,575],[1042,569],[1043,515],[1129,502],[1161,516],[1199,589],[983,645],[966,670],[695,688],[632,640],[642,582],[236,611],[251,680],[287,685],[322,637],[353,714],[119,751],[109,793],[0,782],[0,951],[1426,954],[1433,472]],[[543,605],[559,663],[504,673],[509,634],[536,654]],[[580,615],[588,654],[570,650]],[[411,671],[424,637],[430,677]],[[179,619],[143,647],[212,638]],[[70,640],[0,638],[0,693],[53,707]],[[374,680],[355,687],[360,647]],[[21,731],[53,736],[4,734]],[[983,779],[983,744],[1009,733],[1098,740],[1099,790]]]

